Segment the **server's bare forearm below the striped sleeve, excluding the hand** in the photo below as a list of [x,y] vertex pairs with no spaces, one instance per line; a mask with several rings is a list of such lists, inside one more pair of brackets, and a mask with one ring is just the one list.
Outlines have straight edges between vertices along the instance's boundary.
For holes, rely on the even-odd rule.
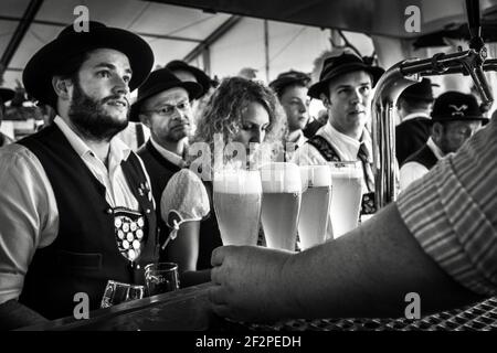
[[479,297],[420,247],[391,205],[347,236],[290,257],[284,267],[292,317],[401,317],[416,292],[422,314]]

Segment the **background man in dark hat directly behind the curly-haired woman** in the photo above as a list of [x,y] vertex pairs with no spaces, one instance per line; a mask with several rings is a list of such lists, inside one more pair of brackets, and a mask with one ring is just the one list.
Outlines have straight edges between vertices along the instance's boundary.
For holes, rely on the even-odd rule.
[[307,141],[303,129],[309,120],[309,98],[307,97],[309,82],[310,77],[307,74],[288,71],[269,83],[286,115],[288,132],[283,143],[287,160],[292,159],[293,152]]

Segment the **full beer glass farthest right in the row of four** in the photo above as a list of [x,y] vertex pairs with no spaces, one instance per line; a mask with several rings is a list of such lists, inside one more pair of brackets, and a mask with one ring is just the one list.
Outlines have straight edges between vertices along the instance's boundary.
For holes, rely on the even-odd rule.
[[331,225],[334,238],[356,228],[362,199],[362,169],[360,162],[330,162]]

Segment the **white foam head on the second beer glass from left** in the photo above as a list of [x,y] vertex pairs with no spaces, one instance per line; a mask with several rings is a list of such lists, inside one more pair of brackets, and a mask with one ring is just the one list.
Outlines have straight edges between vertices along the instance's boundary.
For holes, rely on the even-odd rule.
[[299,167],[295,163],[274,162],[261,167],[262,189],[266,193],[302,192]]

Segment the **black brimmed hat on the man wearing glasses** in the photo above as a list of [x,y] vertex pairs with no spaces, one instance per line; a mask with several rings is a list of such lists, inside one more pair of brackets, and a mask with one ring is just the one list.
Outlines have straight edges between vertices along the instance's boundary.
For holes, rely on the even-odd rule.
[[138,88],[138,97],[129,111],[129,121],[140,121],[140,107],[144,101],[161,92],[181,87],[188,92],[190,100],[198,98],[202,94],[202,86],[194,82],[181,81],[168,68],[154,71],[147,81]]

